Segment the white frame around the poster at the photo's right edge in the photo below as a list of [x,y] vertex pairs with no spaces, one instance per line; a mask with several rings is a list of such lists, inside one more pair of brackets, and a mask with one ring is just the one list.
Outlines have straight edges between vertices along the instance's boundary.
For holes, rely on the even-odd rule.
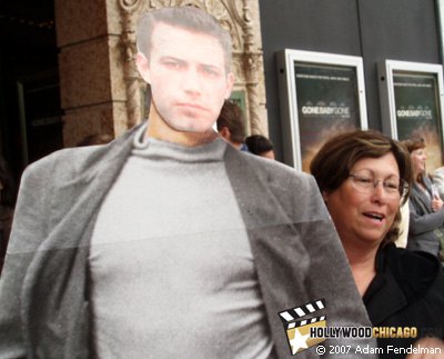
[[443,127],[443,67],[437,63],[410,62],[398,60],[381,60],[377,62],[377,78],[381,102],[381,119],[382,130],[386,136],[398,140],[397,136],[397,119],[395,103],[395,88],[393,76],[396,71],[402,71],[405,74],[408,72],[414,76],[417,73],[433,74],[437,79],[437,93],[435,92],[437,103],[438,119],[441,119],[441,140],[444,139]]

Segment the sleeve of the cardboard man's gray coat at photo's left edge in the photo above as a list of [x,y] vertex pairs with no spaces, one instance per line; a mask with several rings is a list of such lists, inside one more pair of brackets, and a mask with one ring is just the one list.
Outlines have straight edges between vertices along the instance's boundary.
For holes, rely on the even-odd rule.
[[11,237],[0,278],[0,358],[27,356],[22,331],[22,285],[37,248],[47,236],[46,212],[50,190],[43,191],[51,170],[40,171],[32,164],[23,173]]

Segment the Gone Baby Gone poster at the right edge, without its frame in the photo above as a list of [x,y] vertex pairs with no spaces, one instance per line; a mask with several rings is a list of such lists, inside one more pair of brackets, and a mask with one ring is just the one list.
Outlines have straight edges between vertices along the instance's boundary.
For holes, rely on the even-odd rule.
[[397,138],[425,142],[427,172],[443,166],[443,143],[436,74],[393,73]]

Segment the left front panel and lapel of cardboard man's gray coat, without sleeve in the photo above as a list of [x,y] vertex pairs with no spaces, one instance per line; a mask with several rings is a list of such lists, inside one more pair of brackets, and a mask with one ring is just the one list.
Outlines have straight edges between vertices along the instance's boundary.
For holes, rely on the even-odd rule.
[[51,231],[33,255],[22,289],[23,328],[29,328],[24,336],[37,357],[90,356],[90,238],[101,202],[130,154],[135,131],[95,149],[75,170],[69,162],[60,163],[72,177],[51,189],[46,213],[51,217]]

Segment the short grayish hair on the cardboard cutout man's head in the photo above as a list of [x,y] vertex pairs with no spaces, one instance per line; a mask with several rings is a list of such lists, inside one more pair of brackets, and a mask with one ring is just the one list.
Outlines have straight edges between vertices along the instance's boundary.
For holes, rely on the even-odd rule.
[[219,21],[211,14],[191,6],[162,8],[152,12],[142,13],[139,18],[137,34],[138,51],[150,60],[152,32],[158,22],[164,22],[175,28],[194,32],[203,32],[216,38],[225,54],[225,72],[231,68],[231,37]]

